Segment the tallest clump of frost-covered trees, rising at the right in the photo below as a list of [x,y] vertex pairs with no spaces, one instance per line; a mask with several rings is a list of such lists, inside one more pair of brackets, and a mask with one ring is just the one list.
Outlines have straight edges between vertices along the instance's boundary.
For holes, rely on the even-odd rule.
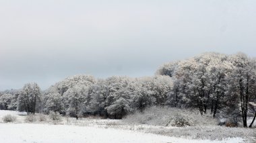
[[[243,107],[241,112],[246,114],[248,110],[247,95],[248,99],[252,100],[252,95],[249,94],[255,93],[252,91],[255,89],[252,88],[254,86],[252,75],[255,74],[255,61],[254,64],[251,61],[241,53],[234,55],[205,53],[187,60],[164,64],[157,70],[156,75],[168,75],[172,78],[173,87],[168,93],[166,102],[168,105],[198,107],[201,113],[211,109],[214,117],[219,113],[218,111],[223,113],[223,110],[226,109],[226,113],[234,113],[237,116],[239,113],[236,109],[238,106],[236,98],[242,97],[239,102],[245,103],[245,105],[240,105]],[[247,70],[242,73],[249,74],[243,74],[240,78],[237,72],[234,73],[237,70]],[[248,86],[245,83],[248,83]],[[243,92],[241,94],[236,92],[235,89],[239,88],[234,88],[234,86],[242,87]],[[247,87],[249,87],[248,92]],[[243,98],[244,95],[245,98]],[[246,115],[242,116],[246,117]]]

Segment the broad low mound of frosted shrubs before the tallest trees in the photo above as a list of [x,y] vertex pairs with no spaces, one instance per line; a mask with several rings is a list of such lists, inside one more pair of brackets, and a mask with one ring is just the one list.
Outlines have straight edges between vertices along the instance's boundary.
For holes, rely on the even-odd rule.
[[177,109],[172,107],[150,107],[142,113],[137,111],[125,117],[130,124],[149,124],[153,126],[200,126],[217,125],[211,115],[201,116],[197,109]]

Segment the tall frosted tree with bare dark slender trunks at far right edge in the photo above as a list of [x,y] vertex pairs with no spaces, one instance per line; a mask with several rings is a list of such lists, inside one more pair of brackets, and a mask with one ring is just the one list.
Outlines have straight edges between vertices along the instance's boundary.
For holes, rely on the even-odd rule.
[[247,58],[244,54],[237,54],[232,57],[232,62],[236,66],[230,75],[229,95],[237,97],[241,109],[243,126],[247,127],[247,118],[249,114],[249,102],[255,101],[256,75],[255,62]]

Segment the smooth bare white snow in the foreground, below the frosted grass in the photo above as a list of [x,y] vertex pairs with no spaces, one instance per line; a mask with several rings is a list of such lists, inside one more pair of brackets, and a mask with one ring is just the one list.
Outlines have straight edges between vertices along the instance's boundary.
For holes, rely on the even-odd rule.
[[243,142],[241,138],[222,141],[187,140],[139,132],[46,124],[0,124],[0,142]]

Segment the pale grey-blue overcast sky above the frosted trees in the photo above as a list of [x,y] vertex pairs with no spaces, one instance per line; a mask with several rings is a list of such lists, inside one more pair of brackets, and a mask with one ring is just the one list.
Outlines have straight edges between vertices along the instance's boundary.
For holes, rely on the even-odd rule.
[[0,0],[0,90],[154,75],[202,52],[256,56],[256,1]]

